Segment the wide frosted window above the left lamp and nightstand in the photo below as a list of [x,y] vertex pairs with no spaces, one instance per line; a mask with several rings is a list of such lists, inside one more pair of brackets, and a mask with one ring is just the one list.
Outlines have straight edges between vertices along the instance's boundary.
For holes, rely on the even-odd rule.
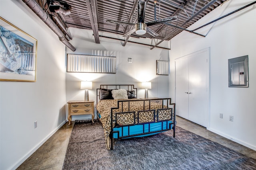
[[116,57],[68,54],[67,72],[116,73]]

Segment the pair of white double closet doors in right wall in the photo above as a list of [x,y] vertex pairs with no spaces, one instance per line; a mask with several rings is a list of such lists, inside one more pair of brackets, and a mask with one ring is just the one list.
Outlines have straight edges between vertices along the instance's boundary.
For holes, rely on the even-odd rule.
[[204,49],[175,61],[176,114],[204,127],[209,124],[208,58]]

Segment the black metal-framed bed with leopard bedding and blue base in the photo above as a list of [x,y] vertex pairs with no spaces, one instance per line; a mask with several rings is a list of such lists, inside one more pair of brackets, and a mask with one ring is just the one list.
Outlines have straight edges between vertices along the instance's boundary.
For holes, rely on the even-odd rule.
[[108,150],[113,149],[113,139],[144,137],[169,130],[173,130],[175,137],[175,104],[171,98],[138,99],[134,85],[100,85],[96,108]]

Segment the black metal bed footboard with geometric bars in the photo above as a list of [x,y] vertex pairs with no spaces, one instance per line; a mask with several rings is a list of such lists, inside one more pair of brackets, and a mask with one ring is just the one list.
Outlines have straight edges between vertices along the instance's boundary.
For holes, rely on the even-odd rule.
[[[140,101],[143,102],[143,110],[140,111],[133,111],[130,108],[130,102],[136,102]],[[161,108],[158,109],[151,109],[151,102],[157,102],[160,101],[160,104],[162,105]],[[148,107],[146,107],[145,102],[148,103]],[[128,110],[124,111],[124,104],[128,104]],[[112,108],[111,109],[111,132],[110,132],[110,142],[111,142],[111,147],[110,149],[113,149],[113,135],[116,133],[117,134],[117,139],[122,139],[122,138],[129,138],[129,137],[137,137],[140,135],[148,135],[148,134],[154,134],[154,133],[159,133],[159,132],[164,132],[164,131],[169,131],[173,129],[173,137],[175,137],[175,125],[176,125],[176,119],[175,119],[175,104],[171,103],[171,98],[155,98],[155,99],[143,99],[143,100],[120,100],[118,101],[118,107]],[[120,109],[121,112],[114,113],[115,109]],[[169,119],[160,119],[159,113],[163,110],[169,110],[168,113],[170,113]],[[148,122],[140,122],[140,113],[145,113],[145,112],[151,112],[153,114],[153,120],[148,121]],[[129,123],[126,125],[120,125],[118,124],[117,117],[120,114],[130,114],[133,117],[133,123]],[[154,123],[161,123],[161,128],[160,130],[157,131],[152,131],[150,130],[150,126],[152,126]],[[136,125],[141,125],[143,127],[143,132],[138,133],[138,134],[130,134],[130,127],[136,126]],[[148,127],[148,130],[146,131],[145,127]],[[122,135],[120,135],[120,130],[119,131],[114,131],[114,128],[119,128],[122,131]],[[128,128],[128,135],[124,135],[123,131],[124,128]]]

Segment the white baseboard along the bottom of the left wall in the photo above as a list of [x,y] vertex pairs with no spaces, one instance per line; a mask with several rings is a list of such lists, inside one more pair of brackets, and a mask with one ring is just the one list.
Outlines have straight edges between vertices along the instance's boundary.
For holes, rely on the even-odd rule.
[[60,127],[62,127],[68,120],[63,121],[56,129],[54,129],[46,138],[44,138],[36,147],[28,152],[28,154],[24,155],[18,162],[10,168],[10,170],[16,170],[26,159],[29,158],[38,148],[40,148]]

